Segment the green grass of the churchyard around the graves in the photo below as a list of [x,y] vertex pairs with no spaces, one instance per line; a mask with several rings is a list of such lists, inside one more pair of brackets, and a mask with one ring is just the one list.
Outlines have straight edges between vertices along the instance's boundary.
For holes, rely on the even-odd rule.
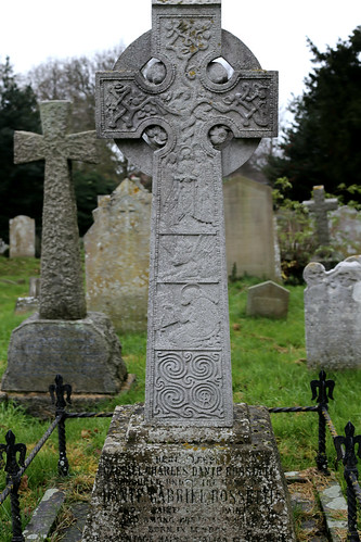
[[[28,278],[39,275],[40,261],[36,259],[0,257],[0,377],[4,373],[7,350],[12,330],[28,315],[14,315],[18,297],[27,295]],[[310,380],[318,379],[318,373],[307,368],[304,325],[304,286],[288,286],[289,310],[287,319],[271,320],[246,316],[247,288],[260,282],[245,277],[230,282],[230,327],[232,350],[233,400],[253,405],[296,406],[312,405]],[[113,411],[117,404],[132,404],[144,401],[145,343],[146,333],[119,336],[123,356],[129,373],[137,376],[132,389],[100,405],[99,409]],[[54,375],[55,376],[55,375]],[[330,414],[339,434],[350,419],[356,433],[361,432],[360,383],[361,371],[345,370],[327,374],[335,380],[335,400],[330,402]],[[52,382],[49,382],[52,383]],[[68,382],[72,383],[72,382]],[[314,457],[318,446],[317,413],[272,414],[281,459],[285,471],[302,470],[314,481],[321,480],[314,472]],[[23,477],[21,505],[24,525],[48,488],[66,491],[66,506],[61,521],[72,521],[69,506],[77,501],[87,501],[93,484],[98,461],[104,443],[111,418],[72,419],[66,423],[69,476],[57,477],[57,436],[50,437],[41,452]],[[27,454],[34,449],[48,423],[26,415],[22,408],[0,404],[0,442],[11,429],[17,439],[27,445]],[[334,470],[335,450],[327,433],[328,465]],[[343,469],[336,478],[344,486]],[[5,484],[5,474],[0,471],[0,490]],[[306,499],[313,493],[312,483],[298,484]],[[317,516],[315,508],[306,515]],[[298,522],[305,513],[296,508]],[[61,525],[57,526],[57,532]],[[9,499],[0,508],[0,540],[11,540],[11,515]],[[310,532],[298,531],[299,540],[311,540]],[[61,540],[57,535],[52,541]],[[314,539],[317,540],[317,539]],[[321,539],[320,539],[321,540]]]

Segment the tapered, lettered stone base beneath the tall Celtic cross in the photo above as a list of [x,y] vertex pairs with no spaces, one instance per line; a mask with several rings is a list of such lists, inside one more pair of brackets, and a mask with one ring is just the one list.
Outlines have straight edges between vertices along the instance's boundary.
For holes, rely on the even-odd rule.
[[151,427],[118,406],[82,542],[292,542],[268,411],[235,405],[232,428]]

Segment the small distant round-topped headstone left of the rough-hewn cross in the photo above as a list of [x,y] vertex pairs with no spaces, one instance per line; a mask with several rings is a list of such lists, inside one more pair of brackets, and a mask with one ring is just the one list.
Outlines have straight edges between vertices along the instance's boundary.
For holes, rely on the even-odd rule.
[[10,257],[35,257],[35,219],[20,215],[9,220]]

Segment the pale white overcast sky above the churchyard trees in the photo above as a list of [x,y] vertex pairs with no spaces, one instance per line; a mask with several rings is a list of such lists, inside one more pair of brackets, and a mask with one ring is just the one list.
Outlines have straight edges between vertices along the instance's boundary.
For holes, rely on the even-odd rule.
[[[129,45],[151,28],[151,0],[5,0],[0,61],[15,73],[49,58],[92,54]],[[237,36],[265,70],[280,72],[280,105],[304,89],[312,68],[306,43],[320,50],[346,40],[361,24],[360,0],[222,0],[222,27]]]

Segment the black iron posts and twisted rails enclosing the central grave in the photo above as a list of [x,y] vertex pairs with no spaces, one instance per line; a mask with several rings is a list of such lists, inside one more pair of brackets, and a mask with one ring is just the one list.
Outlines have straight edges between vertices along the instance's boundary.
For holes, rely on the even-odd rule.
[[[328,462],[326,455],[326,428],[328,428],[337,453],[336,462],[344,464],[344,477],[347,483],[347,505],[348,505],[348,534],[347,540],[351,542],[360,541],[357,530],[357,511],[358,505],[361,506],[361,488],[358,481],[359,472],[357,468],[357,455],[361,457],[361,436],[354,436],[354,427],[349,421],[345,427],[345,437],[338,436],[334,424],[328,414],[328,399],[333,399],[335,382],[326,380],[326,374],[321,370],[319,380],[312,380],[311,383],[312,400],[317,400],[314,406],[292,406],[292,407],[273,407],[268,408],[270,413],[300,413],[300,412],[317,412],[319,415],[319,442],[315,463],[318,469],[328,475]],[[22,532],[22,519],[18,489],[22,476],[27,467],[40,452],[49,437],[57,427],[59,437],[59,462],[57,470],[62,477],[67,476],[69,464],[66,456],[66,431],[65,421],[74,418],[101,418],[112,417],[113,412],[83,412],[69,413],[66,411],[66,404],[72,403],[72,387],[63,383],[61,375],[56,375],[55,385],[49,388],[51,399],[55,403],[55,418],[43,433],[39,442],[36,444],[31,453],[25,459],[26,445],[16,443],[14,433],[9,430],[5,436],[7,444],[0,444],[0,468],[4,466],[7,471],[7,486],[0,494],[0,505],[2,505],[8,496],[11,500],[11,517],[12,517],[12,542],[25,541]],[[356,453],[356,445],[358,452]],[[3,461],[3,455],[5,461]],[[18,457],[18,458],[17,458]]]

